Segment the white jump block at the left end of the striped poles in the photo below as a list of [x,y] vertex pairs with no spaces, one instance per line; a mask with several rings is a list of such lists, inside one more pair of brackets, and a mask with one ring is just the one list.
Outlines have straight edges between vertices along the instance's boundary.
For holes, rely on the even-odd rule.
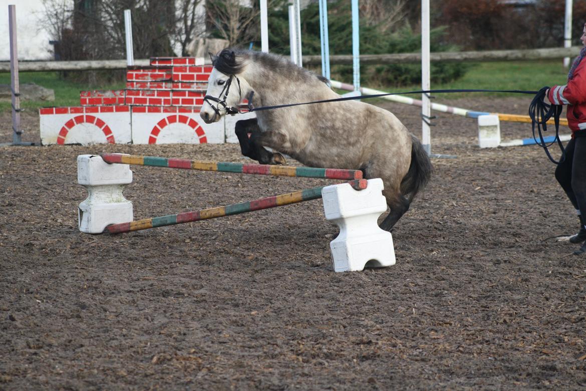
[[122,189],[132,183],[128,164],[108,164],[96,155],[79,155],[77,183],[89,193],[79,204],[81,232],[102,233],[110,224],[132,221],[132,202],[122,195]]

